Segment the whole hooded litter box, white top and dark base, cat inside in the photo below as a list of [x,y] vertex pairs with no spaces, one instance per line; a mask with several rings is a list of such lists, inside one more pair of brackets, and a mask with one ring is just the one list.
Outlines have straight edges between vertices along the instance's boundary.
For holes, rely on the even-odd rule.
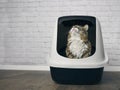
[[108,57],[101,26],[93,16],[62,16],[56,20],[48,57],[52,79],[60,84],[97,84]]

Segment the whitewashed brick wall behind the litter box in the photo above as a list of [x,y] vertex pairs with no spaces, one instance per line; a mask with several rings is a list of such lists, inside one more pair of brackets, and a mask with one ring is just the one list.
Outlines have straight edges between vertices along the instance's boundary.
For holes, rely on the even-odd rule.
[[120,0],[0,0],[0,65],[46,65],[55,19],[93,15],[110,65],[120,65]]

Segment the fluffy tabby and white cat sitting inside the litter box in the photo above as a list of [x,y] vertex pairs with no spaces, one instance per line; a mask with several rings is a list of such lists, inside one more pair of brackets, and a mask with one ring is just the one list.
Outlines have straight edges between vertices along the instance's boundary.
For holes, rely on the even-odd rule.
[[88,40],[89,26],[74,25],[68,32],[66,56],[71,59],[86,58],[91,55],[91,43]]

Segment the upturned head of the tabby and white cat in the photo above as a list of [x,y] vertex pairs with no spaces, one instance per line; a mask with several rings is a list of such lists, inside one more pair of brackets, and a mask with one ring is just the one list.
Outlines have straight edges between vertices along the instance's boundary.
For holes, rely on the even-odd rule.
[[74,25],[71,28],[70,33],[73,35],[78,35],[83,41],[88,41],[88,29],[89,26],[87,24],[84,26]]

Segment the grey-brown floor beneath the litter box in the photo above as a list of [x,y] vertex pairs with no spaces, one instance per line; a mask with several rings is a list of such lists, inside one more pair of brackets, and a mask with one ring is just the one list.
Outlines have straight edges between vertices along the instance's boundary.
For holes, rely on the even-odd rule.
[[120,90],[120,72],[104,72],[98,85],[60,85],[48,71],[0,70],[0,90]]

